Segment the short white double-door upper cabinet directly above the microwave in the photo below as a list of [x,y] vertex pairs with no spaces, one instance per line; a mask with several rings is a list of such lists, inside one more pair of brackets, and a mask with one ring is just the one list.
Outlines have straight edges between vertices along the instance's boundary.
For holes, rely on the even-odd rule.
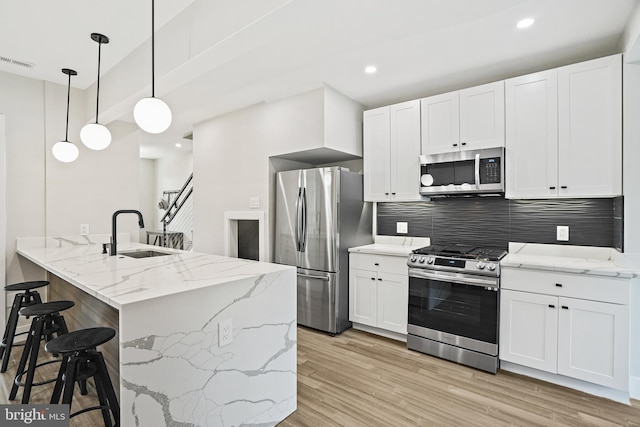
[[421,100],[422,154],[504,147],[504,82]]

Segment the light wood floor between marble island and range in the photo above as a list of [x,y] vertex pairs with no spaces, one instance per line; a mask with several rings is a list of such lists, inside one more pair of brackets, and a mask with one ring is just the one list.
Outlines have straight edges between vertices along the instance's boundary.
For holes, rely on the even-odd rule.
[[407,350],[350,329],[298,328],[298,410],[289,426],[640,426],[631,406]]

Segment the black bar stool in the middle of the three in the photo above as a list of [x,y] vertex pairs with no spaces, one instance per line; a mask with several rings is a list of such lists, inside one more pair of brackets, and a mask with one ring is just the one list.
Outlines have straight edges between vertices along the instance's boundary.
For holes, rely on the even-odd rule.
[[[33,382],[33,377],[36,372],[36,368],[39,366],[48,365],[50,363],[60,362],[59,359],[49,360],[47,362],[37,364],[38,353],[40,352],[40,343],[44,338],[45,341],[53,339],[53,334],[56,336],[62,336],[68,333],[67,323],[64,321],[64,317],[60,314],[61,311],[73,307],[75,304],[73,301],[50,301],[42,304],[34,304],[28,307],[20,309],[20,314],[27,318],[34,316],[31,321],[31,328],[29,329],[29,335],[22,351],[22,357],[20,358],[20,364],[16,371],[16,379],[13,381],[11,387],[11,393],[9,393],[9,400],[14,400],[18,394],[18,387],[24,386],[22,392],[22,403],[29,403],[29,397],[31,396],[31,387],[48,384],[55,381],[46,380],[38,383]],[[27,366],[27,361],[29,366]],[[27,378],[22,382],[22,376],[27,374]]]

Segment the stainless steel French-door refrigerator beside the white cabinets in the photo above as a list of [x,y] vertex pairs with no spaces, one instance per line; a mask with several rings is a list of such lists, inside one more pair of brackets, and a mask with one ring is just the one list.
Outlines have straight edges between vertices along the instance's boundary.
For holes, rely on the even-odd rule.
[[275,262],[298,267],[298,324],[339,334],[349,322],[349,248],[373,241],[362,175],[339,167],[279,172]]

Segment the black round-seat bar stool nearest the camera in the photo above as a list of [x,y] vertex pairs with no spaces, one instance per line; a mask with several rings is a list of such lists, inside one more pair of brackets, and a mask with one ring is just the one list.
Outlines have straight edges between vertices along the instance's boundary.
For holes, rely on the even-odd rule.
[[[59,403],[62,395],[62,403],[68,404],[69,411],[71,411],[73,387],[76,381],[82,384],[83,381],[93,377],[96,385],[100,405],[81,409],[72,413],[69,418],[100,409],[105,427],[120,425],[118,399],[113,389],[111,378],[109,378],[104,357],[102,357],[101,352],[96,350],[97,346],[106,343],[115,336],[116,331],[112,328],[80,329],[54,338],[45,345],[44,348],[48,352],[63,355],[50,403]],[[111,416],[113,416],[113,424],[111,423]]]

